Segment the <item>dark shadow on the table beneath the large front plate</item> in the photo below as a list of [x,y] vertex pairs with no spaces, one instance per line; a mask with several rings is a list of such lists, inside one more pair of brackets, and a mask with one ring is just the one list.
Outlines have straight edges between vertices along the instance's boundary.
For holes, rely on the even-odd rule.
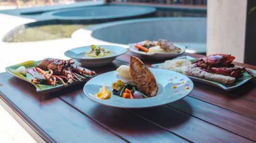
[[[187,112],[189,114],[192,114],[193,111],[189,103],[187,103],[184,100],[180,100],[179,102],[182,103],[181,105],[183,106],[183,108],[187,109]],[[109,110],[111,110],[111,113],[101,112]],[[128,113],[124,112],[123,110],[128,111]],[[103,122],[106,122],[108,118],[112,118],[112,120],[109,122],[110,124],[113,124],[113,126],[123,126],[123,128],[125,128],[124,130],[126,131],[133,131],[135,129],[143,130],[143,134],[148,133],[147,130],[150,130],[148,129],[146,124],[154,123],[168,130],[173,130],[177,126],[186,123],[186,121],[189,120],[189,118],[191,117],[190,115],[184,112],[180,112],[170,106],[159,106],[143,109],[122,109],[98,105],[94,107],[94,109],[91,112],[95,112],[93,118],[103,117]],[[141,133],[141,131],[138,132]]]

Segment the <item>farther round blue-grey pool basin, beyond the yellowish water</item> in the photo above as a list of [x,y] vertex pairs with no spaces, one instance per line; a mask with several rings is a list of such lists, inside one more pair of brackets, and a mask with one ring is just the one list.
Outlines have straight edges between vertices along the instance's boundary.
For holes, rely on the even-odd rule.
[[45,12],[42,17],[57,20],[113,21],[134,19],[153,15],[153,7],[139,6],[93,6],[61,11]]

